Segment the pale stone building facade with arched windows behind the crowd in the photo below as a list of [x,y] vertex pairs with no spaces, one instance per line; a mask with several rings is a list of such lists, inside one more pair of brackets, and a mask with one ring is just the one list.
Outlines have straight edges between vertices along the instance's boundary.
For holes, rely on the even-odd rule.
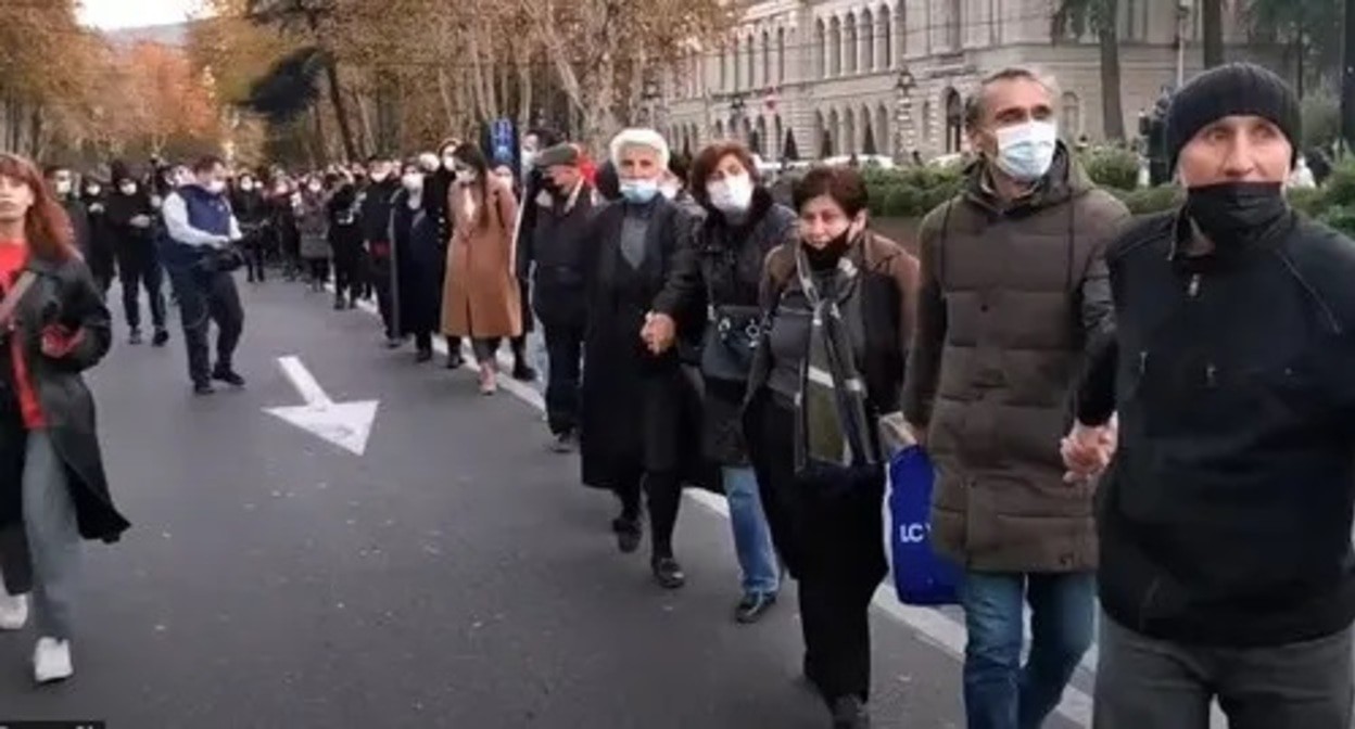
[[[1103,138],[1100,49],[1089,34],[1054,39],[1057,0],[764,0],[748,3],[722,43],[694,47],[664,83],[659,121],[675,149],[720,138],[778,160],[841,154],[924,159],[961,152],[965,99],[1003,66],[1050,75],[1066,138]],[[1187,3],[1187,5],[1179,5]],[[1201,66],[1191,0],[1119,0],[1125,131],[1163,87]],[[1186,35],[1177,57],[1177,35]],[[1276,58],[1245,45],[1225,9],[1230,57]]]

